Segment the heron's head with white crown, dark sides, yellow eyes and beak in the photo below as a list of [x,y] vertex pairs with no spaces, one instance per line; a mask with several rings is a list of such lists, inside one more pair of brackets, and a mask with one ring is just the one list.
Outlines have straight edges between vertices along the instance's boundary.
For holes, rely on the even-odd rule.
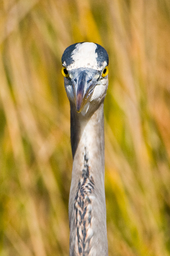
[[68,99],[77,112],[85,115],[103,102],[108,87],[109,58],[95,43],[70,45],[62,56],[62,74]]

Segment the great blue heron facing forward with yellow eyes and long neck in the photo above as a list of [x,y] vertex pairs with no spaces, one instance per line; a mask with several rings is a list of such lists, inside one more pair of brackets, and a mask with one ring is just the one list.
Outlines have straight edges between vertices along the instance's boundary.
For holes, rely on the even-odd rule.
[[104,113],[109,57],[99,44],[70,45],[62,55],[70,101],[73,169],[69,196],[70,256],[107,256]]

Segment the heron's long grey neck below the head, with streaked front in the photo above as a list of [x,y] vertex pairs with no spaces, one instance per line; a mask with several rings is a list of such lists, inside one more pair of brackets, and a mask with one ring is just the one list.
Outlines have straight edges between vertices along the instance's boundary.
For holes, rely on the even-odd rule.
[[70,256],[107,256],[103,103],[88,118],[71,109]]

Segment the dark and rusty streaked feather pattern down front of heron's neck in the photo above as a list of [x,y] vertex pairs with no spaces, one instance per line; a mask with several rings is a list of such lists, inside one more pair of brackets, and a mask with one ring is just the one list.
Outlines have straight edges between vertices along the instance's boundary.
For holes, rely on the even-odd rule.
[[[88,155],[84,152],[84,169],[79,180],[75,197],[76,243],[75,249],[80,256],[89,255],[93,230],[91,228],[92,204],[91,194],[94,189],[94,180],[89,172]],[[77,250],[78,249],[78,250]]]

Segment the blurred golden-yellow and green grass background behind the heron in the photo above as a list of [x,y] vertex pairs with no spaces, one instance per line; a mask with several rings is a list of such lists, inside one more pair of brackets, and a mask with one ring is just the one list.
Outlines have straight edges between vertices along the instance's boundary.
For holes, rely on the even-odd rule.
[[64,49],[102,44],[110,256],[170,255],[170,1],[0,1],[0,256],[68,255]]

